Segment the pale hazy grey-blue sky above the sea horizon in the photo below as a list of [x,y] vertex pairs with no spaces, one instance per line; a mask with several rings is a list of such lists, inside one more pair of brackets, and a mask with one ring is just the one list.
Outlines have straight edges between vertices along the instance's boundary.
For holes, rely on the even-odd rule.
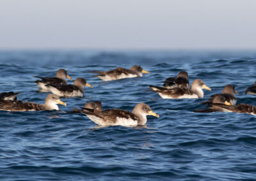
[[0,49],[255,49],[254,0],[1,0]]

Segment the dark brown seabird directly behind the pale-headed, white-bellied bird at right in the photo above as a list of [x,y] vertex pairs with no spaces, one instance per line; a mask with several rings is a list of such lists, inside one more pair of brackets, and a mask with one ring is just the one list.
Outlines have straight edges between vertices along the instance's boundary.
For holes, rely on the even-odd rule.
[[174,87],[189,88],[188,73],[186,71],[180,71],[176,77],[166,78],[163,87],[172,89]]

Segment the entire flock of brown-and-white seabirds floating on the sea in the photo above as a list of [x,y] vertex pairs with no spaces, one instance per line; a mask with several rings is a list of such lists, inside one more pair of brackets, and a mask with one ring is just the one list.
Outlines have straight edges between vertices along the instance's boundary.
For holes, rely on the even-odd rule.
[[[130,69],[117,67],[110,71],[93,71],[97,73],[95,77],[104,81],[118,80],[123,78],[134,78],[143,76],[145,71],[141,66],[132,66]],[[56,77],[42,77],[36,80],[40,92],[51,92],[45,98],[45,103],[22,102],[17,99],[19,92],[2,92],[0,93],[0,110],[8,112],[26,112],[26,111],[42,111],[42,110],[59,110],[58,104],[67,106],[60,98],[83,97],[84,87],[92,88],[92,85],[86,82],[84,78],[76,78],[73,84],[67,84],[66,78],[72,80],[65,69],[59,69]],[[149,85],[147,91],[157,92],[163,99],[196,99],[204,98],[206,89],[211,91],[211,88],[205,83],[196,79],[189,85],[189,77],[186,71],[180,71],[177,76],[166,78],[162,87]],[[246,94],[256,95],[255,85],[246,89]],[[237,99],[234,85],[226,85],[223,91],[219,94],[212,94],[210,98],[201,103],[207,108],[203,110],[194,110],[198,113],[211,112],[236,112],[250,113],[256,115],[256,106],[241,103],[236,105]],[[152,115],[159,118],[157,113],[154,113],[150,106],[145,103],[138,103],[134,106],[132,112],[121,110],[118,108],[102,110],[100,101],[88,102],[83,108],[74,108],[68,113],[83,113],[90,120],[99,126],[144,126],[147,123],[147,115]]]

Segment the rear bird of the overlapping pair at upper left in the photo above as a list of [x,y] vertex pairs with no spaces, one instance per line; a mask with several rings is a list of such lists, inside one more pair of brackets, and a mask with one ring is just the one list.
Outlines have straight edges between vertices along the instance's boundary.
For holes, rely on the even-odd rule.
[[42,80],[36,80],[36,84],[39,87],[40,92],[51,92],[48,87],[46,87],[47,84],[52,85],[67,85],[66,77],[70,80],[72,78],[68,75],[67,71],[65,69],[59,69],[56,73],[56,77],[42,77],[42,76],[35,76],[37,78],[41,78]]

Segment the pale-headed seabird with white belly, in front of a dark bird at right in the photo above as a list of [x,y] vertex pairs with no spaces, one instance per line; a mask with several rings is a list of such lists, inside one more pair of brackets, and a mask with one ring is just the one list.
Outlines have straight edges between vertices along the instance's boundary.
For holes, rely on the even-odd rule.
[[163,99],[184,99],[184,98],[204,98],[204,91],[202,89],[207,89],[211,91],[211,88],[207,87],[205,83],[196,79],[191,85],[191,89],[184,87],[175,87],[173,89],[167,89],[164,87],[157,87],[154,85],[149,86],[153,91],[157,92],[159,96]]

